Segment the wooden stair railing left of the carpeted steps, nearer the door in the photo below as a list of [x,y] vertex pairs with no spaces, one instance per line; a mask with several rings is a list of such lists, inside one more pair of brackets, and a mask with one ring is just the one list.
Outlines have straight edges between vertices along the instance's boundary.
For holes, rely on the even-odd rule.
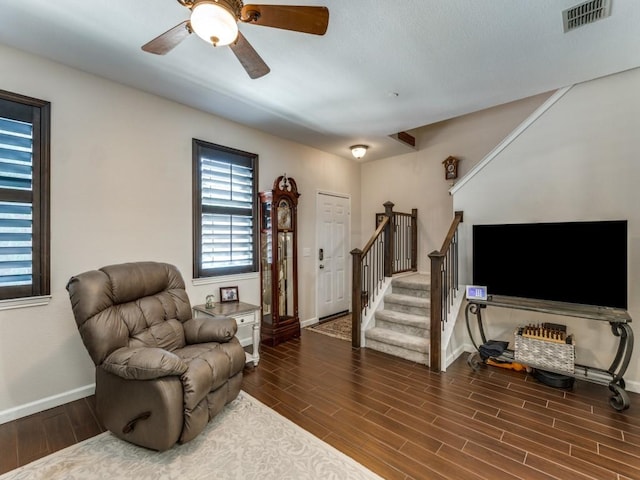
[[377,228],[362,250],[353,249],[351,281],[351,346],[360,348],[362,314],[366,314],[386,277],[418,270],[418,210],[393,211],[385,202],[376,215]]

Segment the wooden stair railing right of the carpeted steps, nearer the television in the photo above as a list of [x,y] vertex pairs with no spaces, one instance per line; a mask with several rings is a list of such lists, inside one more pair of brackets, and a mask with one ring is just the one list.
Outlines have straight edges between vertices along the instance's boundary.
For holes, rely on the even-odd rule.
[[429,254],[431,259],[431,328],[429,332],[429,368],[439,372],[442,330],[458,290],[458,226],[462,212],[455,212],[442,248]]

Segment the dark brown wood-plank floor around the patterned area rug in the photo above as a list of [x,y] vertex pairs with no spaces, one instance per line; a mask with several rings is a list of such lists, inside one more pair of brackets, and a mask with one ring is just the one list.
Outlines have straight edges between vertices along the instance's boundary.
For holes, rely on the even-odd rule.
[[[243,390],[389,479],[640,479],[640,395],[570,392],[458,359],[445,374],[303,331]],[[0,425],[0,473],[102,431],[93,397]]]

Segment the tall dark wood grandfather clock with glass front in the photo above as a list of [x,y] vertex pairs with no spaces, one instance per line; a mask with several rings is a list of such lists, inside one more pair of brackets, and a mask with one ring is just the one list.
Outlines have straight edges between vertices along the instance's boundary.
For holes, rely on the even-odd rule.
[[300,336],[298,187],[286,174],[260,193],[261,341],[275,346]]

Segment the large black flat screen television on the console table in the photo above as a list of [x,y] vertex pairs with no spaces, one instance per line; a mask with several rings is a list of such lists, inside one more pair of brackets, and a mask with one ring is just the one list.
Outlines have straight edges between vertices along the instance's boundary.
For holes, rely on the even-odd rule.
[[627,309],[627,221],[473,226],[473,283],[489,295]]

